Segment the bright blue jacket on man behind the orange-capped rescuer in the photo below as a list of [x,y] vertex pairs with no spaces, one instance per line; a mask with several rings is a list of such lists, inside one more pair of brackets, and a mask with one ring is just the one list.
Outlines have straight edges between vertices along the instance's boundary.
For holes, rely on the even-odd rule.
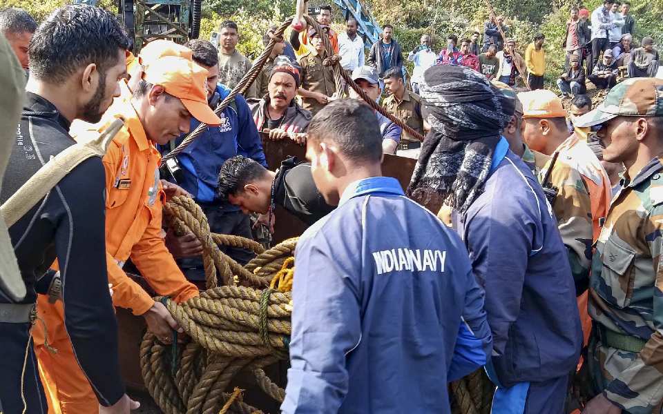
[[[216,90],[221,95],[221,100],[230,93],[230,90],[222,85],[218,85]],[[247,101],[242,95],[237,95],[235,102],[236,108],[228,106],[220,115],[220,126],[207,126],[200,137],[177,155],[184,172],[184,181],[177,184],[191,193],[196,201],[203,203],[218,201],[216,189],[219,171],[223,163],[231,157],[244,155],[267,167],[265,153],[262,152],[262,141]],[[198,119],[192,118],[191,130],[193,131],[199,124]],[[175,146],[183,139],[184,135],[176,139]],[[171,151],[171,146],[159,146],[159,150],[162,154],[167,154]],[[239,210],[239,208],[226,204],[224,210]]]

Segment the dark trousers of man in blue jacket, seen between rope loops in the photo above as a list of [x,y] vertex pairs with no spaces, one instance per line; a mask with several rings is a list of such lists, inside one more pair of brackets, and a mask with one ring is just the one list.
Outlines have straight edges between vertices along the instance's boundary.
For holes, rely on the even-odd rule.
[[[207,217],[209,229],[212,233],[242,236],[247,239],[253,238],[251,234],[251,220],[248,215],[245,215],[241,211],[224,211],[220,206],[201,205],[201,208]],[[220,250],[242,265],[247,264],[249,260],[256,256],[253,252],[242,248],[223,247]],[[201,257],[180,259],[177,260],[177,264],[180,265],[187,279],[205,279],[205,268]]]

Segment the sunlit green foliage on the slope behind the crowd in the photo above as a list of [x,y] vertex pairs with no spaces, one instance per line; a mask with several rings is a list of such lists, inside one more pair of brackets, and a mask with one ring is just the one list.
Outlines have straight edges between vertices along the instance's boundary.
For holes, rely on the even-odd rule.
[[[25,8],[35,19],[41,20],[55,8],[70,0],[0,0],[0,8]],[[309,6],[331,3],[311,0]],[[474,30],[483,34],[483,23],[490,12],[484,1],[477,0],[365,0],[364,4],[381,25],[391,23],[396,39],[408,52],[419,44],[421,34],[432,35],[434,49],[440,50],[446,36],[470,36]],[[602,0],[492,0],[497,14],[506,16],[510,37],[516,39],[521,54],[536,32],[546,35],[546,82],[553,86],[564,66],[564,41],[568,10],[584,5],[590,11]],[[99,5],[117,10],[115,0],[99,0]],[[209,39],[221,21],[231,19],[240,27],[238,49],[251,59],[262,50],[262,34],[271,23],[280,23],[294,14],[295,0],[205,0],[200,37]],[[343,14],[334,6],[334,30],[344,30]],[[631,14],[635,17],[635,39],[651,36],[663,45],[663,0],[631,0]],[[411,69],[411,68],[410,68]]]

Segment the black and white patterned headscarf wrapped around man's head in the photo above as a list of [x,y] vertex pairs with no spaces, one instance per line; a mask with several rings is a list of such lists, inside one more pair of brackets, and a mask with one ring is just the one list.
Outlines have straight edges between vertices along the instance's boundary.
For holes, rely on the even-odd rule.
[[419,86],[431,126],[407,193],[441,199],[464,213],[481,193],[492,154],[514,104],[470,68],[441,65],[426,70]]

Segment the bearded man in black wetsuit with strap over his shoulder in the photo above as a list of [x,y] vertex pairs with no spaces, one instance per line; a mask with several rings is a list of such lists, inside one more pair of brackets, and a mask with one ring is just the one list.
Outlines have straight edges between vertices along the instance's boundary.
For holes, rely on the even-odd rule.
[[[92,6],[59,8],[39,26],[28,50],[27,100],[15,127],[0,201],[75,144],[67,133],[73,119],[101,119],[119,96],[117,81],[126,75],[128,43],[113,14]],[[137,408],[124,393],[118,366],[117,322],[104,254],[102,161],[91,157],[68,172],[10,228],[10,237],[28,293],[21,300],[0,295],[3,411],[46,413],[30,331],[37,292],[48,290],[48,282],[39,282],[49,279],[43,275],[55,259],[65,309],[61,332],[75,350],[73,364],[94,390],[93,411],[126,414]]]

